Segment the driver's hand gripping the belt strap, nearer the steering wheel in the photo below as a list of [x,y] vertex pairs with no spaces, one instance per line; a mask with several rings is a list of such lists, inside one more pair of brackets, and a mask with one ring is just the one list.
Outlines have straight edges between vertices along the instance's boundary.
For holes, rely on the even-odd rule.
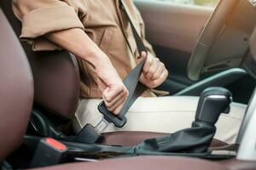
[[[143,52],[142,57],[147,57],[147,54]],[[160,59],[148,55],[145,65],[143,66],[140,82],[148,88],[156,88],[160,86],[161,83],[165,82],[167,77],[168,71]]]

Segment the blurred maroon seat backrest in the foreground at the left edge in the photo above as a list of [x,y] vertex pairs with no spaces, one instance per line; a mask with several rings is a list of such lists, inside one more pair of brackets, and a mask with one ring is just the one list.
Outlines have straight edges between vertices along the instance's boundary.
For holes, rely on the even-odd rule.
[[33,101],[26,54],[0,8],[0,161],[19,146]]

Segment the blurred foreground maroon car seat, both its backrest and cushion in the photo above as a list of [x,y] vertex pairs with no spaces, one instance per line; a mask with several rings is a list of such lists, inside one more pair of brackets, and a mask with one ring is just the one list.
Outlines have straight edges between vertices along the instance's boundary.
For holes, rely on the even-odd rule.
[[[33,78],[20,42],[0,9],[0,163],[17,149],[26,133],[33,102]],[[26,155],[26,154],[25,154]],[[24,156],[25,156],[24,155]],[[235,162],[235,163],[234,163]],[[232,161],[237,167],[253,167],[254,162]],[[3,168],[6,168],[3,163]],[[41,169],[231,169],[230,162],[217,163],[175,156],[126,157],[97,162],[67,163]],[[38,168],[40,169],[40,168]],[[232,168],[234,169],[234,168]]]

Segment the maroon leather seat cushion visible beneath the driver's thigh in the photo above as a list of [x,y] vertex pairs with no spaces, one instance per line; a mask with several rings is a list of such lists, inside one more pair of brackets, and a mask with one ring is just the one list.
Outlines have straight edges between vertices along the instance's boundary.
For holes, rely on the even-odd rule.
[[[132,146],[143,142],[145,139],[165,136],[167,133],[122,131],[102,133],[102,135],[104,136],[102,144]],[[226,145],[224,142],[219,141],[218,139],[213,139],[211,147],[220,147],[224,145]]]

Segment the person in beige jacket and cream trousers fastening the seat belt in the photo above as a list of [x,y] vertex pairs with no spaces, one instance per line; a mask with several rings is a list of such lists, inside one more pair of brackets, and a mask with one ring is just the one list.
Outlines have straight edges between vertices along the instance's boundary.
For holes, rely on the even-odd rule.
[[[131,0],[123,0],[137,32],[148,50],[140,77],[148,89],[127,113],[123,128],[107,131],[137,130],[172,133],[189,127],[194,120],[198,98],[156,97],[153,88],[166,80],[168,71],[145,39],[141,15]],[[135,38],[120,0],[13,0],[16,16],[22,21],[20,38],[33,50],[65,48],[77,56],[81,75],[81,100],[74,119],[79,131],[87,122],[95,125],[101,114],[97,105],[103,99],[109,111],[119,114],[127,89],[121,81],[146,53],[138,54]],[[234,105],[228,116],[218,122],[217,139],[233,143],[244,105]]]

